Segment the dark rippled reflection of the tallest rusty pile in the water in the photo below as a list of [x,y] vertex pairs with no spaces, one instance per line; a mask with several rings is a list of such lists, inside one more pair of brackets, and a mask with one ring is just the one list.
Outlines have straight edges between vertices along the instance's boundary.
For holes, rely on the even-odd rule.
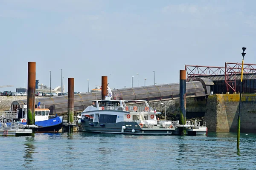
[[24,167],[29,167],[30,164],[34,161],[34,153],[35,153],[35,137],[26,137],[25,143],[24,143],[24,149],[23,152],[25,155],[24,158]]

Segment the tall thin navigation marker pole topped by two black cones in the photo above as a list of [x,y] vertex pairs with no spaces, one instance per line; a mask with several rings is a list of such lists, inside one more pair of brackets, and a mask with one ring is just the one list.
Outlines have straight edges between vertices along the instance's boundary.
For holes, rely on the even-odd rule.
[[237,142],[236,142],[236,149],[239,150],[239,141],[240,141],[240,107],[241,107],[241,94],[242,94],[242,86],[243,86],[243,71],[244,71],[244,56],[246,53],[244,51],[246,50],[245,47],[242,48],[242,70],[241,70],[241,84],[240,84],[240,98],[239,98],[239,109],[238,109],[238,119],[237,119]]

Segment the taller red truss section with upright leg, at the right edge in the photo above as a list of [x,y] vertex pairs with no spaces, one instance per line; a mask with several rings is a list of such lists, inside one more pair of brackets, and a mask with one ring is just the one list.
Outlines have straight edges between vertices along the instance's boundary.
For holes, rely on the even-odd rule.
[[[242,64],[225,62],[225,83],[227,91],[236,91],[236,74],[241,74]],[[244,64],[243,73],[256,73],[256,64]]]

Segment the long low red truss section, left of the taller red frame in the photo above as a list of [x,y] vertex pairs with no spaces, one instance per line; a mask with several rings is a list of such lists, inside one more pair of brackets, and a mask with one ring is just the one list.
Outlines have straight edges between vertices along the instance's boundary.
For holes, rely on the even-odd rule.
[[195,76],[224,75],[225,67],[211,67],[199,65],[185,65],[186,81],[195,79]]

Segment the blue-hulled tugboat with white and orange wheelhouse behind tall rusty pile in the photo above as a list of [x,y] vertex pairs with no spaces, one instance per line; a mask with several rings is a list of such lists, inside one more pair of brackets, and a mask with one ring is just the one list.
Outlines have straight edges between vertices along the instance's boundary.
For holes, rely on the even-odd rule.
[[[62,127],[62,116],[49,117],[50,110],[45,108],[45,105],[35,105],[35,133],[55,133]],[[27,117],[27,105],[23,105],[22,108],[17,110],[16,121],[26,125]]]

